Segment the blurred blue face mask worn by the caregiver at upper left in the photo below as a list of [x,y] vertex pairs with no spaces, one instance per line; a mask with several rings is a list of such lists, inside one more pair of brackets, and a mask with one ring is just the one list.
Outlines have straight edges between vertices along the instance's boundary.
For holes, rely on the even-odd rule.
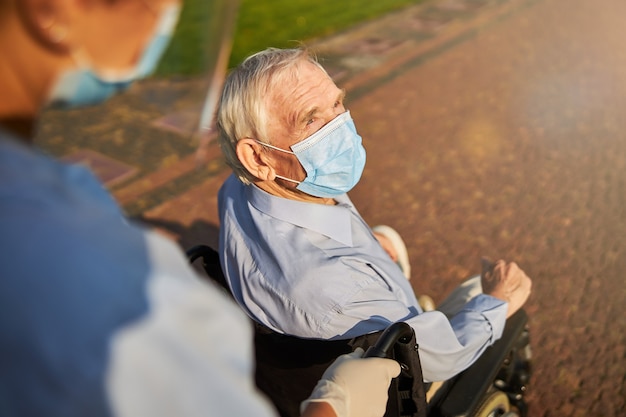
[[133,81],[152,73],[169,44],[179,14],[179,4],[172,3],[165,7],[139,62],[129,71],[121,74],[119,71],[97,71],[87,59],[75,54],[74,60],[78,68],[65,71],[59,76],[49,96],[50,105],[76,107],[97,104],[125,90]]

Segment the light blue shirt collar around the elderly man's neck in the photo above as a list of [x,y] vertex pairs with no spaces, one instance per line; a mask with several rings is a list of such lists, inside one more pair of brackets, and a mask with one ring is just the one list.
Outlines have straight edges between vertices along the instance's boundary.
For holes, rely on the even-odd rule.
[[335,198],[338,204],[305,203],[271,195],[255,185],[246,187],[254,208],[276,219],[313,230],[344,245],[352,246],[352,202],[347,194]]

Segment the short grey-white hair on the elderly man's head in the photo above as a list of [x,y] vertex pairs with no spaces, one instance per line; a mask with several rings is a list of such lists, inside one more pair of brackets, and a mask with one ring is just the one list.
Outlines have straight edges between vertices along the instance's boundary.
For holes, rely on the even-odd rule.
[[244,184],[254,176],[237,158],[237,142],[253,138],[269,143],[268,97],[287,79],[296,78],[298,65],[306,61],[324,70],[306,48],[268,48],[248,57],[226,78],[217,108],[218,138],[226,163]]

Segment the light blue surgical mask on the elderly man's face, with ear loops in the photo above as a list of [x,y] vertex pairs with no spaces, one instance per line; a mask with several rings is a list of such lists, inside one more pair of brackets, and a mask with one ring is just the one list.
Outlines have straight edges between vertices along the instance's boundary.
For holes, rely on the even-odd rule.
[[291,146],[293,152],[259,143],[295,155],[306,171],[306,178],[296,181],[276,177],[298,184],[296,189],[315,197],[332,198],[347,193],[359,182],[365,167],[365,148],[349,111]]

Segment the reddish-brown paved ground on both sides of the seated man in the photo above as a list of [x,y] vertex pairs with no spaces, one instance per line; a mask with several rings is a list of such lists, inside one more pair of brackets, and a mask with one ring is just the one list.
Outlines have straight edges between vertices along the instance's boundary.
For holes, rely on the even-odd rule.
[[[626,415],[625,15],[620,0],[430,0],[313,44],[368,150],[351,197],[401,231],[416,291],[441,300],[482,255],[534,279],[532,416]],[[129,134],[53,113],[40,143],[112,158],[131,215],[215,244],[218,148],[197,168],[193,141],[142,117]]]

